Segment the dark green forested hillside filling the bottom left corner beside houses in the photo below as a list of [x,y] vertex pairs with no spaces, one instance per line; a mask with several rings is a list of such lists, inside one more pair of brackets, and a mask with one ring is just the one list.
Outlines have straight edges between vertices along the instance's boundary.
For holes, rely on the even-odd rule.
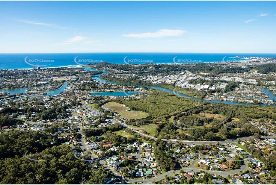
[[47,130],[2,133],[0,184],[106,184],[112,177],[102,166],[77,160],[70,146],[58,142]]

